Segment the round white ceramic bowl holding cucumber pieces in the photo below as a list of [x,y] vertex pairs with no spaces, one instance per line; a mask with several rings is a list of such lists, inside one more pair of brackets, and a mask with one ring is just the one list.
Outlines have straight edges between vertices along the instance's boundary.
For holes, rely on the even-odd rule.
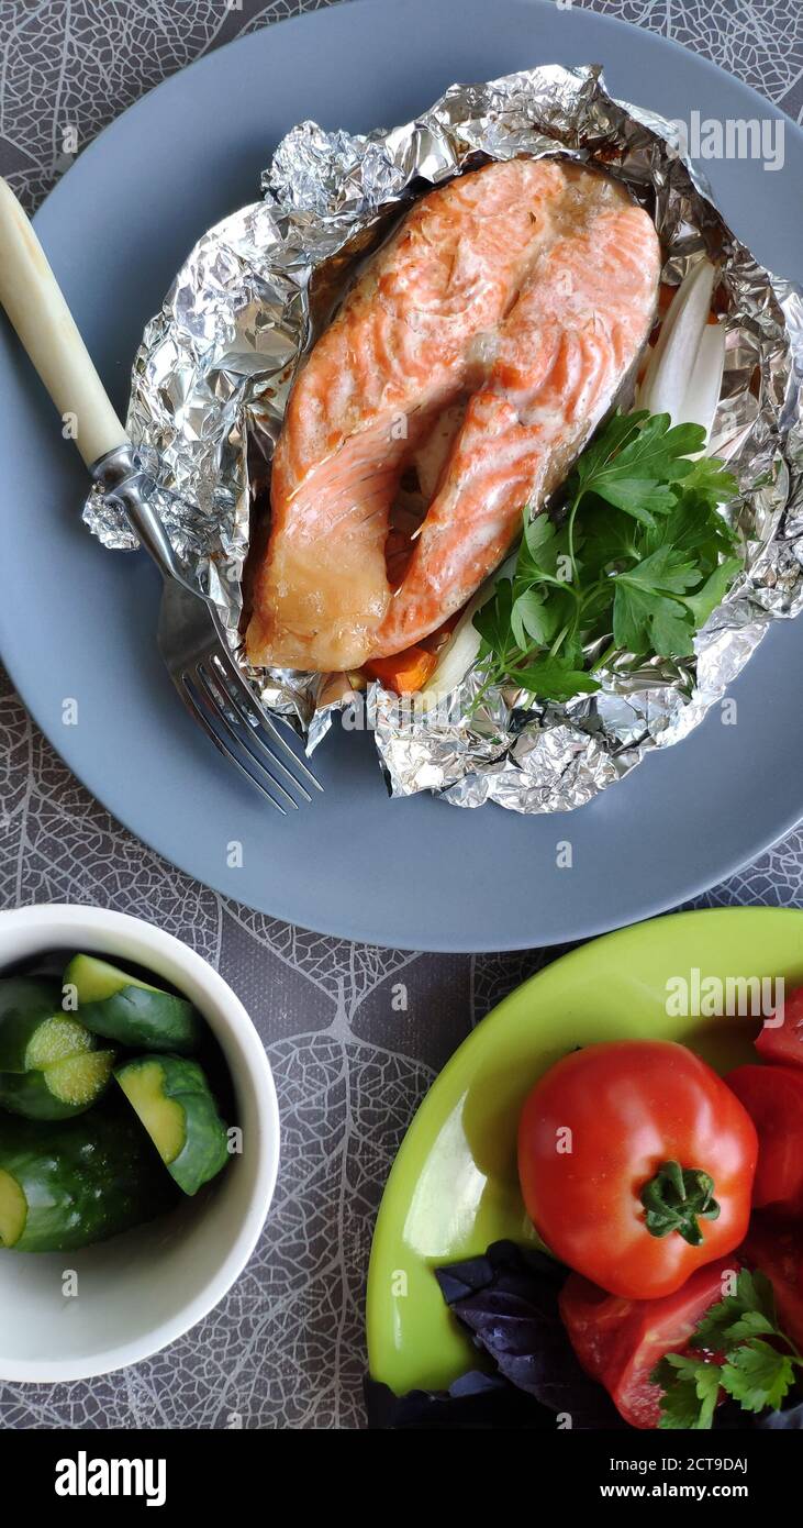
[[[180,1337],[226,1294],[263,1229],[279,1161],[279,1115],[263,1044],[243,1004],[171,934],[102,908],[0,912],[0,975],[50,950],[136,961],[195,1004],[226,1057],[243,1152],[168,1216],[72,1253],[0,1250],[0,1380],[84,1380]],[[64,1274],[78,1274],[78,1296]],[[69,1287],[70,1280],[67,1280]]]

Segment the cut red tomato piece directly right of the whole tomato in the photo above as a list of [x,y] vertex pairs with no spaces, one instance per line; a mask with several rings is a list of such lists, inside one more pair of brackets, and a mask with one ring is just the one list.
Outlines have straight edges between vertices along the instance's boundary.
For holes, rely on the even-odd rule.
[[737,1067],[727,1080],[759,1132],[753,1204],[803,1213],[803,1071]]

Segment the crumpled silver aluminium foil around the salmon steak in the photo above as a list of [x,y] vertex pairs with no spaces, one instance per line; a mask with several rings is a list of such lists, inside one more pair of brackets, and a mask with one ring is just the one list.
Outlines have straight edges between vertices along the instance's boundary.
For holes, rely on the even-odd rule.
[[[485,695],[470,672],[449,707],[420,714],[371,685],[372,729],[394,796],[429,790],[460,807],[566,811],[620,779],[652,749],[698,726],[765,636],[803,605],[803,301],[763,270],[682,157],[678,128],[614,101],[597,67],[524,70],[452,86],[403,127],[366,138],[302,122],[263,176],[264,200],[197,243],[137,351],[128,431],[156,475],[157,504],[188,573],[215,601],[237,660],[263,701],[311,752],[337,712],[359,724],[343,675],[252,669],[241,654],[243,575],[255,504],[267,501],[273,445],[299,358],[314,342],[357,260],[415,197],[464,168],[562,153],[623,180],[655,217],[676,283],[707,251],[721,270],[727,362],[711,449],[740,498],[745,571],[698,634],[695,659],[655,659],[603,674],[568,704],[521,709]],[[108,547],[136,545],[96,489],[84,520]],[[264,533],[264,529],[263,529]]]

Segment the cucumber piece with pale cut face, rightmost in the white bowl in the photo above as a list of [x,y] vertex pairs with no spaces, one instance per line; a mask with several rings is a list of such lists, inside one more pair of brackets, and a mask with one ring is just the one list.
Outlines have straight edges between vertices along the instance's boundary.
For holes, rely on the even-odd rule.
[[183,1193],[197,1193],[221,1172],[229,1160],[226,1125],[195,1060],[137,1056],[114,1077]]

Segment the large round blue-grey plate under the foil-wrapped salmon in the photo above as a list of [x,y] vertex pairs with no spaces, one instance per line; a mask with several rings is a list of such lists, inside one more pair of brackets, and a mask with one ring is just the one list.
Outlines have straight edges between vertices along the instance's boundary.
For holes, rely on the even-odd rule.
[[[37,217],[111,397],[125,408],[142,325],[198,234],[253,200],[278,139],[313,116],[402,122],[453,79],[605,64],[614,95],[670,118],[777,116],[661,38],[539,0],[351,3],[203,58],[121,116]],[[803,134],[786,165],[704,167],[765,264],[800,277]],[[316,755],[327,795],[279,821],[179,706],[156,643],[159,579],[79,524],[85,480],[18,347],[0,336],[0,645],[35,720],[84,784],[182,869],[263,912],[356,940],[484,950],[563,943],[659,912],[754,859],[803,814],[803,622],[779,623],[710,715],[569,816],[389,802],[365,736]],[[78,701],[78,724],[63,703]],[[572,868],[557,868],[560,840]],[[232,842],[243,865],[229,868]]]

